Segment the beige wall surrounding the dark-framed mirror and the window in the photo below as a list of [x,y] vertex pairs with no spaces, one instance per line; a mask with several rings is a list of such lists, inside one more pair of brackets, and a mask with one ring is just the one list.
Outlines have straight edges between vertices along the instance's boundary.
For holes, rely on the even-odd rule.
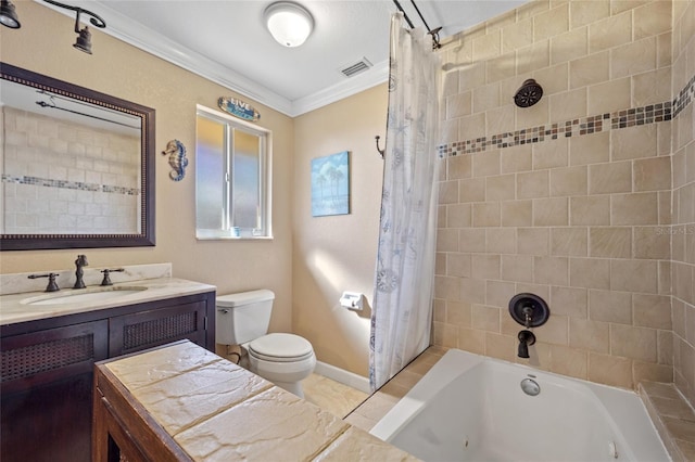
[[[260,125],[273,130],[271,242],[198,242],[194,238],[195,104],[216,107],[235,95],[218,85],[92,30],[93,54],[75,50],[74,20],[33,1],[15,2],[22,28],[0,27],[0,60],[156,110],[156,246],[87,249],[91,267],[170,261],[174,274],[210,284],[218,293],[267,287],[277,298],[271,330],[291,329],[292,119],[254,104]],[[108,21],[109,18],[106,18]],[[238,97],[238,95],[235,95]],[[244,98],[242,98],[244,99]],[[166,142],[188,149],[186,178],[168,178]],[[3,252],[0,271],[70,269],[77,249]]]

